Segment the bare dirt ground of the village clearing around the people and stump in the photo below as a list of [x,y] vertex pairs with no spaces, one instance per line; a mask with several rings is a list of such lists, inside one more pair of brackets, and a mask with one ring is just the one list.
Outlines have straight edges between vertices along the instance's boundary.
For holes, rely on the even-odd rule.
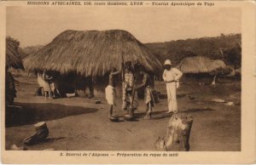
[[[16,80],[20,83],[15,105],[22,105],[23,109],[8,112],[6,149],[13,144],[22,145],[22,140],[34,133],[33,124],[40,121],[47,122],[49,139],[43,144],[27,146],[28,150],[154,151],[155,139],[166,134],[171,117],[163,112],[167,108],[166,100],[160,100],[154,107],[153,120],[138,118],[136,122],[110,122],[104,97],[97,98],[102,100],[98,105],[80,97],[44,100],[44,97],[34,96],[35,77],[16,77]],[[194,118],[191,151],[240,151],[241,106],[210,102],[221,98],[239,103],[239,87],[240,83],[221,84],[217,88],[188,83],[178,90],[180,111]],[[157,84],[156,89],[164,92],[165,85]],[[189,93],[195,100],[183,97]],[[115,110],[117,114],[123,114],[119,111],[120,106]],[[138,115],[142,116],[143,110],[141,100]]]

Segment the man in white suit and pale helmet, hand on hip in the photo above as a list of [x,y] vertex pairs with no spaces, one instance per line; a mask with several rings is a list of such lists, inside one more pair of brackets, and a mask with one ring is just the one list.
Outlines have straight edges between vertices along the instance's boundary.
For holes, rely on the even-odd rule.
[[163,80],[166,83],[168,111],[166,113],[177,112],[176,90],[179,86],[179,79],[183,76],[183,72],[172,67],[171,60],[165,61],[165,71]]

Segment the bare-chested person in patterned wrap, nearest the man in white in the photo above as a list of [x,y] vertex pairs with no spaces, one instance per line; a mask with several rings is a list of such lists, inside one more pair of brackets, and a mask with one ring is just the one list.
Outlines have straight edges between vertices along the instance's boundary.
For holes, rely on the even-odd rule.
[[145,91],[144,100],[147,106],[146,116],[144,117],[144,119],[150,119],[152,108],[154,107],[154,96],[152,94],[152,88],[151,88],[153,84],[147,72],[142,70],[139,73],[140,75],[143,76],[143,83],[139,85],[136,89],[138,90],[140,88],[144,88],[144,91]]

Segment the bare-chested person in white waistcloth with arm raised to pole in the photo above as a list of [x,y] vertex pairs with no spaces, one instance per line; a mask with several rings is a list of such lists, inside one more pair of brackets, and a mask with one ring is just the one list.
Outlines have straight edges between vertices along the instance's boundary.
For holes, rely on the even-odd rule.
[[110,72],[109,74],[109,83],[108,87],[105,88],[105,94],[106,94],[106,100],[108,101],[109,107],[109,118],[113,117],[113,105],[116,105],[115,97],[116,97],[116,81],[117,81],[117,75],[121,71],[117,71],[115,68]]

